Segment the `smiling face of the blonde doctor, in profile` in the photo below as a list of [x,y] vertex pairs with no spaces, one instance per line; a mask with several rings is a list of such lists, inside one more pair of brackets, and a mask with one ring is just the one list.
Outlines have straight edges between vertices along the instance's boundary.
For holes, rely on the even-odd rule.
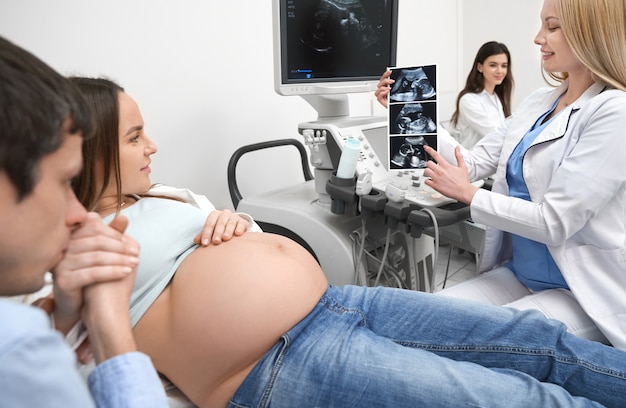
[[557,1],[559,0],[544,1],[541,9],[541,28],[535,37],[535,44],[541,46],[543,67],[546,72],[567,72],[571,75],[585,68],[572,52],[561,29]]

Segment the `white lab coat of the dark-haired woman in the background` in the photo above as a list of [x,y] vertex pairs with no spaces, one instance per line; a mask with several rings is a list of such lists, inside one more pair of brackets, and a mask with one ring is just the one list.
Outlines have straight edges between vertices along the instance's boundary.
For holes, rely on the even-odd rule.
[[463,147],[471,149],[480,139],[504,123],[502,102],[495,93],[467,93],[459,100],[455,131]]

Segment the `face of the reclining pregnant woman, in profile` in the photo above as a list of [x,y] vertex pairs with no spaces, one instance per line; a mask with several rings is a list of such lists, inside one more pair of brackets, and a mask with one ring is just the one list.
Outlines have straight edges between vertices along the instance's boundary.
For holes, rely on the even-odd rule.
[[123,194],[150,189],[150,156],[157,147],[146,135],[139,106],[125,92],[119,93],[120,176]]

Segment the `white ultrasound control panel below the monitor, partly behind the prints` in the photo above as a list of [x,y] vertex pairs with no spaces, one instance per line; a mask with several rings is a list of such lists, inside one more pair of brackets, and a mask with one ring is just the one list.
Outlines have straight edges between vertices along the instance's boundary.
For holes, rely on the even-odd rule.
[[423,207],[439,207],[455,202],[424,183],[423,169],[388,171],[386,118],[306,122],[301,123],[298,129],[309,148],[311,164],[318,169],[336,169],[345,141],[353,137],[361,142],[357,176],[370,173],[372,188],[385,193],[390,201],[406,201]]

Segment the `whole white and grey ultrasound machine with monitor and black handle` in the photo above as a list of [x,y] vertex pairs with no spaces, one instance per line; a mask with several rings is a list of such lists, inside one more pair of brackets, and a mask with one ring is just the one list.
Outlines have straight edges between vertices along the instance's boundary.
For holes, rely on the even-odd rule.
[[[469,210],[426,186],[423,169],[389,170],[388,118],[350,116],[347,96],[373,92],[395,65],[399,0],[272,1],[275,90],[302,97],[318,113],[297,125],[313,176],[241,197],[234,166],[254,150],[244,147],[229,163],[235,208],[265,231],[300,242],[331,284],[432,291],[439,242],[478,253],[480,231],[458,233]],[[360,156],[354,177],[339,179],[349,138],[360,142]]]

